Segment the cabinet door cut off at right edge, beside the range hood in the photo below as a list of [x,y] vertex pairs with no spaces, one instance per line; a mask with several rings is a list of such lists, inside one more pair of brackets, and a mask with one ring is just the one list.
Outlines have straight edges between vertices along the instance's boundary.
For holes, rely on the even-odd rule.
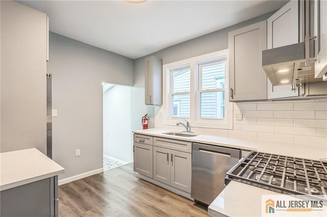
[[315,36],[317,36],[315,77],[327,73],[327,1],[315,1]]

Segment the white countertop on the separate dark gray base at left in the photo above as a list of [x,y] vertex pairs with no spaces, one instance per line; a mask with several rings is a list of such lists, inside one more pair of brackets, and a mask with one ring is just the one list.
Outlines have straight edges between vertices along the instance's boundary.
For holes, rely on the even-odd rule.
[[0,191],[64,173],[36,148],[0,153]]

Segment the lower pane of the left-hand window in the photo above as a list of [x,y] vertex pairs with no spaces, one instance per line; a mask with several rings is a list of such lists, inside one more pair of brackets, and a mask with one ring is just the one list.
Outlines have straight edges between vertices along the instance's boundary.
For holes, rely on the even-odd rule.
[[180,94],[172,96],[172,117],[190,117],[190,94]]

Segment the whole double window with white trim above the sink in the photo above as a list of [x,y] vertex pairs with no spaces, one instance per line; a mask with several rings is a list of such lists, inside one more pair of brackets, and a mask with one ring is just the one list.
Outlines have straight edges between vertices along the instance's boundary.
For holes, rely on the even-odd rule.
[[227,55],[222,50],[164,65],[164,125],[187,119],[194,127],[232,128]]

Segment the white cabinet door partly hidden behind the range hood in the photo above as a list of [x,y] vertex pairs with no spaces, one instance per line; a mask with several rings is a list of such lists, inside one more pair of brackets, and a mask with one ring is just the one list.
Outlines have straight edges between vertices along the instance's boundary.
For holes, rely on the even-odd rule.
[[[299,2],[290,1],[267,20],[267,49],[299,42]],[[285,34],[287,33],[287,34]],[[272,86],[267,79],[268,99],[298,96],[291,85]]]

